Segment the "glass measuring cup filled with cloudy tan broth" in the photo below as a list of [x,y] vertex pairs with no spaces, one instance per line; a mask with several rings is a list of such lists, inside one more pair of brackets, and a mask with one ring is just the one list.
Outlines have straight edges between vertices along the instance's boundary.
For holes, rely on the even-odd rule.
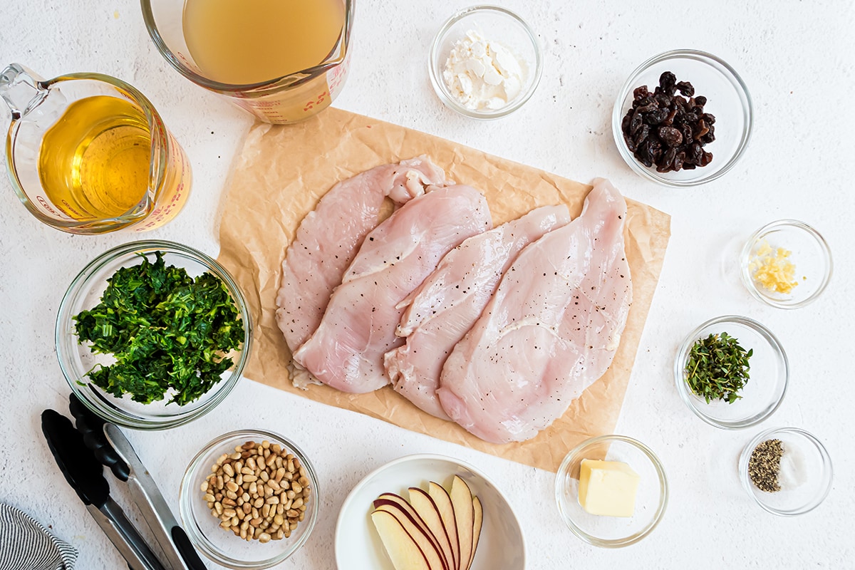
[[141,0],[152,41],[179,73],[257,119],[326,109],[347,73],[354,0]]

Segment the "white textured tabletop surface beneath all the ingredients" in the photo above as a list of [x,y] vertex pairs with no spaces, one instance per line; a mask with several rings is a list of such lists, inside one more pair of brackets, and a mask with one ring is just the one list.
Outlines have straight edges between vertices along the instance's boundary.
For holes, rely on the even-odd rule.
[[[321,520],[309,544],[281,567],[334,567],[335,519],[365,473],[416,452],[457,456],[509,495],[528,544],[528,568],[571,563],[605,567],[852,567],[855,447],[852,444],[852,132],[855,130],[855,13],[849,0],[752,3],[504,2],[540,34],[540,88],[515,115],[475,122],[452,115],[427,74],[433,32],[462,6],[451,0],[358,0],[351,75],[335,103],[364,115],[449,138],[572,179],[610,178],[628,197],[673,216],[659,289],[617,431],[649,444],[671,485],[661,525],[640,544],[601,550],[582,544],[558,518],[553,476],[362,415],[310,403],[249,380],[220,408],[170,432],[129,432],[168,501],[187,461],[221,432],[261,426],[293,438],[321,477]],[[132,0],[85,3],[4,0],[0,62],[53,77],[97,71],[139,87],[160,110],[193,167],[186,208],[147,237],[218,250],[221,193],[251,120],[168,68]],[[707,50],[736,68],[752,92],[755,130],[746,156],[722,179],[672,190],[642,181],[610,135],[616,90],[648,56]],[[0,112],[0,115],[3,115]],[[834,254],[834,278],[806,309],[767,308],[741,289],[725,254],[770,220],[817,227]],[[0,500],[25,509],[80,549],[83,570],[124,567],[85,514],[44,444],[38,415],[67,412],[53,320],[66,286],[93,256],[133,236],[77,237],[42,226],[0,181],[0,409],[5,449]],[[681,338],[717,314],[746,314],[781,339],[792,384],[764,425],[722,432],[681,403],[672,360]],[[740,488],[740,448],[767,426],[799,426],[828,447],[834,488],[795,519],[765,513]],[[111,479],[112,481],[113,479]],[[119,489],[119,485],[112,485]],[[119,502],[127,495],[117,491]],[[211,567],[214,567],[211,565]],[[368,570],[368,569],[367,569]]]

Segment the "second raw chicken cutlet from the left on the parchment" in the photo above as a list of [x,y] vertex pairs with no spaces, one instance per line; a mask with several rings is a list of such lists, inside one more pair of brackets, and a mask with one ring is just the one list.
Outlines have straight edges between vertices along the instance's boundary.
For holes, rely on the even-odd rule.
[[403,344],[400,303],[451,248],[492,227],[481,192],[465,185],[413,198],[365,238],[320,326],[294,360],[326,385],[364,393],[389,383],[386,351]]

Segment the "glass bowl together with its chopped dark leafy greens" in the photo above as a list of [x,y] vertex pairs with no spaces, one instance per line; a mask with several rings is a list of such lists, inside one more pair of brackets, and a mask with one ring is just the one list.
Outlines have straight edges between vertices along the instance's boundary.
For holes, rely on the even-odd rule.
[[251,348],[245,298],[217,261],[140,241],[91,261],[62,299],[56,352],[68,385],[103,419],[163,429],[232,390]]

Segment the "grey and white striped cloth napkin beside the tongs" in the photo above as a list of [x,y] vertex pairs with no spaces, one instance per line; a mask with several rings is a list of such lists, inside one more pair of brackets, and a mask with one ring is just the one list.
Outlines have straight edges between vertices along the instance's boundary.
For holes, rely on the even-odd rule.
[[38,520],[0,502],[0,570],[74,570],[77,550]]

